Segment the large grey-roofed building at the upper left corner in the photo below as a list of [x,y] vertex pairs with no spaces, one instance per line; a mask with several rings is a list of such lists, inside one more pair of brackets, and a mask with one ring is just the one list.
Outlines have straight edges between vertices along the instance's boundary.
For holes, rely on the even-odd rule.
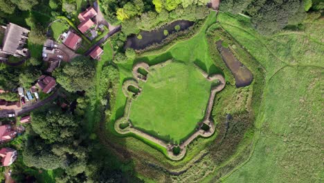
[[28,49],[24,48],[24,45],[28,39],[29,30],[12,23],[2,27],[6,29],[6,32],[0,53],[15,57],[28,55]]

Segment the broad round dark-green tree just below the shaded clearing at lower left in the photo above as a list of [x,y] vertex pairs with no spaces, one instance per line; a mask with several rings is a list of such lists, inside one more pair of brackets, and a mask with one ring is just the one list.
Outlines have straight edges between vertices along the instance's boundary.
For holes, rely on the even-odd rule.
[[71,141],[79,125],[75,116],[60,109],[32,112],[31,117],[33,130],[49,143]]

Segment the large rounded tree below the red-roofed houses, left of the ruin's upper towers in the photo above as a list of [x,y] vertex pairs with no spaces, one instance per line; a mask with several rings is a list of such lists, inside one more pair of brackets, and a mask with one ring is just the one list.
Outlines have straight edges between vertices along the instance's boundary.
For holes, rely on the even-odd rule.
[[53,75],[68,92],[87,91],[93,85],[94,63],[87,57],[79,56],[62,69],[56,69]]

